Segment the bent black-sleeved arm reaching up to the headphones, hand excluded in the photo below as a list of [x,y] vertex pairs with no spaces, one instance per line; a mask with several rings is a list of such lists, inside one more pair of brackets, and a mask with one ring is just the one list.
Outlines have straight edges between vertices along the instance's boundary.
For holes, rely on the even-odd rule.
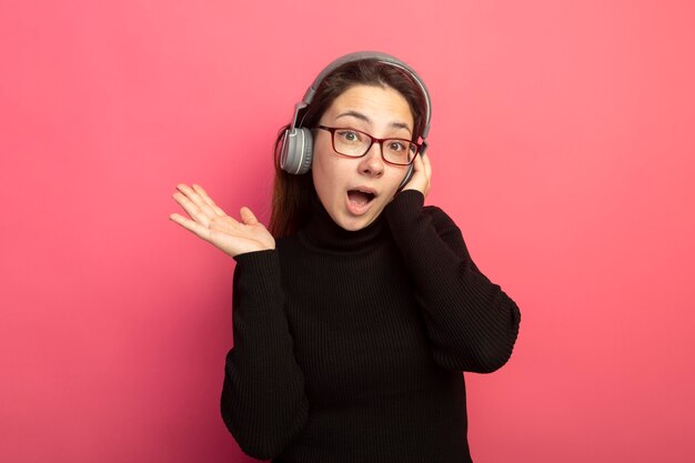
[[403,191],[385,214],[414,280],[434,360],[451,370],[495,371],[512,354],[518,308],[477,270],[449,215],[423,203],[421,191]]

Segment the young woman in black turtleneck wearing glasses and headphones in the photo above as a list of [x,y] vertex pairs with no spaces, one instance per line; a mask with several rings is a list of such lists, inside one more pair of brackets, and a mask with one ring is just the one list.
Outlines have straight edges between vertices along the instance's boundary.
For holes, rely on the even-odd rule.
[[410,67],[352,53],[275,143],[272,233],[246,208],[235,220],[201,187],[178,187],[191,219],[171,219],[236,261],[221,405],[249,455],[471,461],[461,372],[502,366],[521,315],[454,222],[423,205],[429,123]]

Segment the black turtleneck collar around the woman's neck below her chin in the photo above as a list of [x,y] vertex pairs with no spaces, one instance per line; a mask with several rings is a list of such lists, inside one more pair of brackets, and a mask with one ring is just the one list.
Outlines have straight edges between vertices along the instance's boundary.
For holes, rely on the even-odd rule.
[[333,221],[314,193],[311,198],[310,218],[302,233],[311,244],[318,248],[354,252],[370,249],[382,242],[387,233],[387,225],[382,213],[364,229],[348,231]]

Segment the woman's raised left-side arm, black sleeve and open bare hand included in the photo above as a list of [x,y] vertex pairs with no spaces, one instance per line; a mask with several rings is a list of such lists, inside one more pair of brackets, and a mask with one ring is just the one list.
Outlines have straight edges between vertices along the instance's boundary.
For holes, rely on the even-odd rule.
[[171,214],[184,229],[236,260],[234,348],[226,355],[222,419],[239,446],[272,459],[304,426],[309,402],[293,354],[275,240],[248,208],[229,217],[199,185],[177,187],[174,200],[190,215]]

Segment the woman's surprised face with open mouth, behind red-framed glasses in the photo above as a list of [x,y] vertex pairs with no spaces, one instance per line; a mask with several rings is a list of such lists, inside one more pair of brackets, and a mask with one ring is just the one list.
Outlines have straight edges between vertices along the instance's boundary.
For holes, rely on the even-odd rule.
[[[391,87],[360,84],[341,93],[320,124],[411,140],[413,114],[405,98]],[[381,214],[407,172],[407,167],[385,163],[379,143],[362,158],[338,154],[326,130],[314,132],[311,169],[321,203],[335,223],[350,231],[367,227]]]

